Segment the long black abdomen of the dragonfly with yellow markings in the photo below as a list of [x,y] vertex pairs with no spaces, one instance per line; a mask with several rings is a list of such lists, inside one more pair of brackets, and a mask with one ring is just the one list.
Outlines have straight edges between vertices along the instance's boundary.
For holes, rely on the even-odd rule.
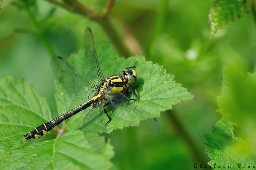
[[86,109],[93,103],[93,100],[89,100],[88,102],[81,104],[80,106],[72,109],[71,111],[57,117],[56,119],[53,119],[51,121],[48,121],[46,123],[41,124],[40,126],[37,126],[34,130],[30,131],[29,133],[25,134],[26,137],[24,141],[27,141],[28,139],[32,138],[39,138],[40,136],[43,136],[46,132],[51,131],[55,126],[59,125],[64,120],[67,120],[71,116],[79,113],[80,111]]

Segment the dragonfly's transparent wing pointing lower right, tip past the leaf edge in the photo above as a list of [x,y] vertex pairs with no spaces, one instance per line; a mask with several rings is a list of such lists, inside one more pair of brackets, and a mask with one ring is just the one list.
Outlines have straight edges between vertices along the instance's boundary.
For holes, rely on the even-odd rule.
[[[132,125],[132,122],[140,121],[139,126],[136,127],[136,129],[146,132],[146,133],[159,133],[161,131],[161,127],[157,121],[156,118],[148,118],[147,120],[141,120],[144,119],[144,116],[140,115],[138,111],[140,111],[140,107],[137,105],[137,101],[129,101],[125,95],[124,92],[116,92],[112,91],[111,89],[107,89],[107,93],[105,95],[105,98],[108,101],[111,102],[111,107],[115,109],[115,115],[110,115],[112,117],[112,121],[115,121],[116,117],[119,117],[121,119],[124,119],[126,121],[130,121],[130,124]],[[112,121],[110,123],[112,123]],[[109,124],[110,124],[109,123]]]

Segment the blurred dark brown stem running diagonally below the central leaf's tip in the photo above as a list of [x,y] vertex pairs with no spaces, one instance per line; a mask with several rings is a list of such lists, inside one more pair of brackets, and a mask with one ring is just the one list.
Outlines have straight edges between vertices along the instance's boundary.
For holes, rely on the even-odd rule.
[[186,139],[187,145],[191,148],[194,158],[197,162],[207,164],[208,161],[205,159],[205,156],[202,154],[203,152],[200,152],[195,142],[192,140],[189,133],[186,131],[184,126],[182,125],[181,121],[177,117],[176,113],[174,111],[168,110],[166,111],[168,114],[169,120],[173,123],[175,128],[180,132],[180,134]]

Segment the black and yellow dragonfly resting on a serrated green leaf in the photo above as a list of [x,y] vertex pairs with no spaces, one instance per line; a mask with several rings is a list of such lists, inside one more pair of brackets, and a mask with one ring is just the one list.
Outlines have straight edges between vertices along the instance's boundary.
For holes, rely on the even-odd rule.
[[109,119],[105,123],[105,126],[107,126],[107,124],[111,121],[111,117],[106,111],[105,106],[113,104],[118,100],[125,102],[138,100],[128,99],[126,97],[128,92],[134,94],[135,87],[131,88],[130,85],[134,84],[137,79],[137,73],[134,70],[137,62],[134,64],[134,66],[125,68],[123,70],[123,75],[115,75],[104,78],[95,49],[93,34],[90,28],[85,29],[84,47],[86,69],[92,81],[79,74],[64,58],[57,56],[52,59],[53,69],[57,74],[58,80],[62,84],[70,99],[74,103],[79,104],[79,106],[57,117],[56,119],[36,127],[34,130],[24,135],[24,141],[43,136],[46,132],[51,131],[62,121],[67,120],[71,116],[81,112],[89,106],[92,106],[89,113],[91,113],[94,108],[97,108],[102,115],[105,113]]

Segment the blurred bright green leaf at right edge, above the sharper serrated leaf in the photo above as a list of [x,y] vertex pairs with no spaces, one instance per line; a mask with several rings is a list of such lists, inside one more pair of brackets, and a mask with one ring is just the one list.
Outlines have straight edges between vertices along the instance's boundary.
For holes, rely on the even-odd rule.
[[217,98],[219,112],[230,115],[234,123],[241,123],[247,118],[255,122],[256,73],[224,67],[222,83],[222,95]]

